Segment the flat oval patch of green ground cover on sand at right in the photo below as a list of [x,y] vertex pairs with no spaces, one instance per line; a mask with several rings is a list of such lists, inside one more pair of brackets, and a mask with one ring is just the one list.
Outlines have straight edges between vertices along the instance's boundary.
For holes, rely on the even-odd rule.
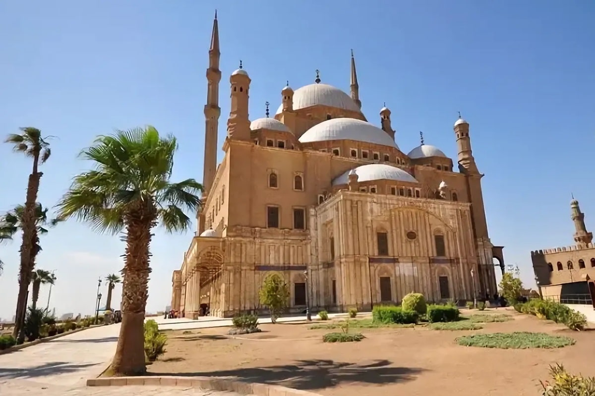
[[562,348],[574,345],[577,341],[569,337],[560,337],[540,332],[496,332],[492,334],[464,335],[456,338],[456,343],[466,347],[528,349],[528,348]]

